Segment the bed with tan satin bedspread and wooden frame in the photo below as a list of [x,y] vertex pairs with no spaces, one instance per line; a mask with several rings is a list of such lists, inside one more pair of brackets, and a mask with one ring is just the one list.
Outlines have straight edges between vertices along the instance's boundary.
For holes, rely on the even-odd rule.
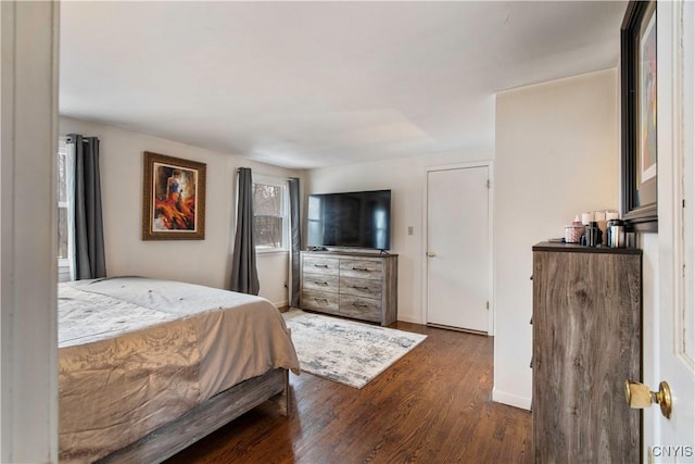
[[157,462],[275,398],[299,361],[267,300],[141,277],[59,286],[65,463]]

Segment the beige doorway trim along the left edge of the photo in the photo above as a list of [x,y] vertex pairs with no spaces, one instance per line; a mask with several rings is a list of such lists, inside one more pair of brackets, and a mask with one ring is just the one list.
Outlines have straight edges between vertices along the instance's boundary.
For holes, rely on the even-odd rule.
[[0,462],[59,459],[59,2],[0,3]]

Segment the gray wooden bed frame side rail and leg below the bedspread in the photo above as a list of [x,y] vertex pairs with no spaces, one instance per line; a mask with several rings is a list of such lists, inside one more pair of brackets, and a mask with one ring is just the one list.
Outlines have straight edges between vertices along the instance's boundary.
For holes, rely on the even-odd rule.
[[273,400],[290,414],[289,375],[285,368],[242,381],[163,425],[98,463],[161,463],[261,403]]

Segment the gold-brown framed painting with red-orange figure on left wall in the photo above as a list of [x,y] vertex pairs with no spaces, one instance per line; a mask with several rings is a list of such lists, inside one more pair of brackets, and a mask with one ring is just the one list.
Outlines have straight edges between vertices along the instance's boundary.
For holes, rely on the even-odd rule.
[[205,239],[204,163],[144,152],[142,240]]

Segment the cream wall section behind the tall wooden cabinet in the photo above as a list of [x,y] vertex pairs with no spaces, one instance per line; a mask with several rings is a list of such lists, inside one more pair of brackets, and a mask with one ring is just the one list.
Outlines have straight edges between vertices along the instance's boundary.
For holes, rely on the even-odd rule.
[[495,401],[531,404],[531,247],[582,211],[618,209],[617,88],[608,70],[497,95]]

